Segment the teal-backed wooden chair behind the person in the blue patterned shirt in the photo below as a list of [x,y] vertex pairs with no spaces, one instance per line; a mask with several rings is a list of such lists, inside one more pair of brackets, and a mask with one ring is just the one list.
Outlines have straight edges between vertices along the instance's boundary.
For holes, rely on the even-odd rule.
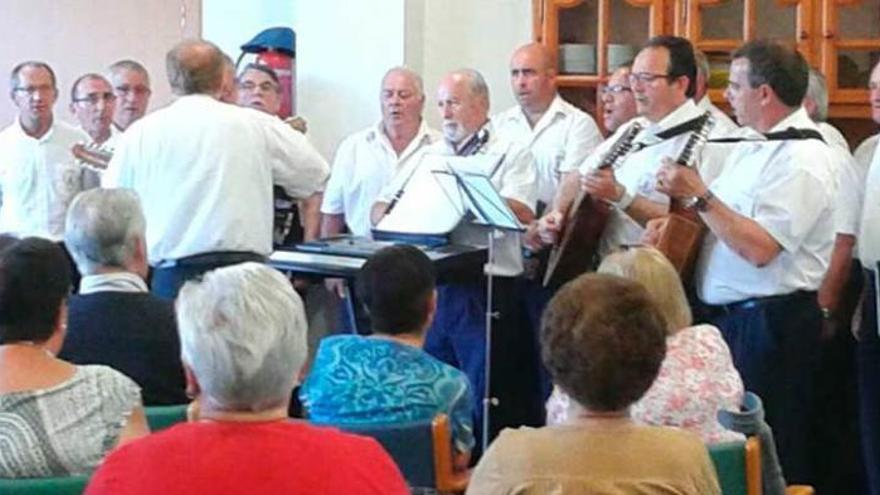
[[378,441],[411,487],[434,488],[441,493],[461,493],[467,488],[470,473],[457,472],[452,465],[452,431],[445,414],[404,424],[328,426]]

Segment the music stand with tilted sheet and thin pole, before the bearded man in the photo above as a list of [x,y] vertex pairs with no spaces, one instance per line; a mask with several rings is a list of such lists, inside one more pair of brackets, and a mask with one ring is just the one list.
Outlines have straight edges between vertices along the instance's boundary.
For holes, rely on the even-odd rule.
[[[488,260],[489,267],[495,265],[495,235],[499,231],[525,232],[525,227],[519,223],[516,215],[510,211],[507,202],[495,187],[488,176],[475,173],[457,172],[452,167],[448,170],[435,170],[434,174],[451,175],[455,177],[455,183],[459,191],[464,193],[464,206],[473,215],[471,223],[484,227],[488,236]],[[491,268],[486,271],[486,379],[483,388],[483,452],[489,447],[489,410],[491,406],[498,405],[498,399],[492,397],[492,319],[497,317],[492,305],[493,275]]]

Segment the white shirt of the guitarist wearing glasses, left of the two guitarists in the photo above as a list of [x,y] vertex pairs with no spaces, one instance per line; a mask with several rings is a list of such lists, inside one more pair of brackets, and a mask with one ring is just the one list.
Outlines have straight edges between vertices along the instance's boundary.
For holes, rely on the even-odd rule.
[[[685,142],[692,133],[685,132],[665,140],[658,138],[657,134],[699,117],[703,113],[704,110],[698,108],[692,100],[687,100],[660,120],[660,122],[652,123],[644,117],[636,117],[620,126],[610,138],[605,140],[581,164],[580,173],[586,174],[598,167],[601,164],[602,158],[604,158],[605,154],[614,146],[618,139],[630,126],[635,122],[639,122],[642,124],[643,129],[636,135],[634,143],[636,146],[641,144],[644,147],[630,153],[617,165],[617,169],[614,171],[615,178],[617,182],[626,188],[629,194],[637,194],[655,203],[669,204],[669,196],[657,191],[657,170],[662,165],[663,158],[676,159],[680,155]],[[707,153],[710,147],[703,148],[700,151],[700,157],[696,161],[700,174],[703,175],[703,180],[706,182],[711,182],[717,173],[716,171],[720,170],[720,167],[715,164],[719,160],[711,153]],[[643,233],[644,227],[639,225],[626,212],[612,208],[611,214],[608,217],[608,223],[605,226],[605,232],[600,240],[599,254],[605,256],[620,248],[620,246],[637,244],[641,240]]]

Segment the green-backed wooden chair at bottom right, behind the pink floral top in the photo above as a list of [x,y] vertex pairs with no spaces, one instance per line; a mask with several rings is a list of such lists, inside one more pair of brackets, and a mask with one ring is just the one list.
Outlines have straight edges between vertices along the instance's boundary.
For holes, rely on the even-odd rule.
[[[709,445],[709,457],[718,473],[722,495],[762,495],[761,443],[757,437],[745,442]],[[809,485],[786,487],[786,495],[813,495]]]

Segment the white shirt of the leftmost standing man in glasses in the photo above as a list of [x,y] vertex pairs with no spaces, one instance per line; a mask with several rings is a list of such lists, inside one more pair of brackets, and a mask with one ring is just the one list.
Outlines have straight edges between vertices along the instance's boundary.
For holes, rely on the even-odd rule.
[[87,189],[86,169],[71,147],[89,136],[57,119],[39,139],[19,119],[0,132],[0,232],[60,241],[73,198]]

